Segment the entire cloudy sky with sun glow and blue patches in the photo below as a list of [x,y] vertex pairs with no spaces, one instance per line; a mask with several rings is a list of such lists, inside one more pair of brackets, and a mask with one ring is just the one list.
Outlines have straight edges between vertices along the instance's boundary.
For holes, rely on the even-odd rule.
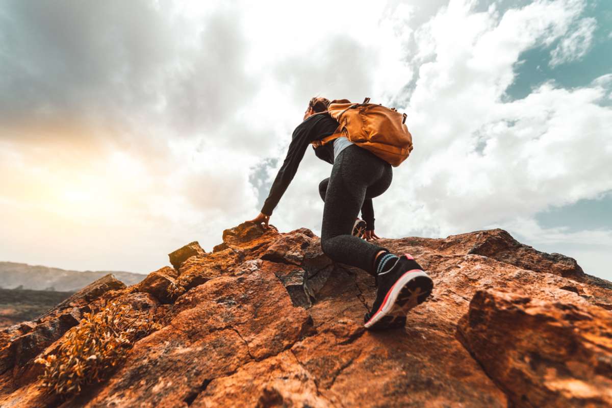
[[[258,214],[310,97],[395,106],[382,237],[504,228],[612,280],[612,2],[0,2],[0,261],[150,272]],[[271,218],[321,232],[307,152]]]

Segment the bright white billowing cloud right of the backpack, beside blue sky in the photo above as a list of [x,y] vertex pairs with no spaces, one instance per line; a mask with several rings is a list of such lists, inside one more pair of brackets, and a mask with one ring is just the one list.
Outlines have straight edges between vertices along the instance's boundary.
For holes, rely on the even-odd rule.
[[521,51],[561,37],[582,7],[534,2],[498,15],[451,2],[421,28],[428,40],[420,48],[435,59],[420,65],[406,108],[415,149],[395,169],[383,204],[385,212],[405,209],[410,221],[379,225],[394,236],[444,235],[612,188],[612,113],[595,103],[601,87],[544,84],[523,100],[502,102]]

